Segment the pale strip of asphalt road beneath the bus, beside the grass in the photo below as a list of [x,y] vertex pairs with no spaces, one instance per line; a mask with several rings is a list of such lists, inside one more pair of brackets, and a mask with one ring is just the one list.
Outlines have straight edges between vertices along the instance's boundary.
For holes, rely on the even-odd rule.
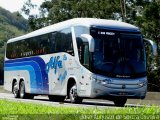
[[[71,104],[69,100],[66,100],[64,102],[52,102],[49,101],[47,96],[41,96],[41,95],[35,96],[34,99],[17,99],[14,98],[13,94],[11,93],[0,93],[0,99],[7,99],[10,101],[17,101],[17,102],[44,104],[49,106],[115,108],[114,103],[112,101],[101,100],[101,99],[84,99],[82,104]],[[142,105],[126,104],[126,106],[141,107]]]

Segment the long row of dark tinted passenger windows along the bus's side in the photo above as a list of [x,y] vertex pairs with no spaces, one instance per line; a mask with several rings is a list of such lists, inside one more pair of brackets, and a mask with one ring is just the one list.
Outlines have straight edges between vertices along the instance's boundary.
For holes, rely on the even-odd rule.
[[9,59],[14,59],[55,52],[67,52],[74,55],[70,28],[8,43],[6,56]]

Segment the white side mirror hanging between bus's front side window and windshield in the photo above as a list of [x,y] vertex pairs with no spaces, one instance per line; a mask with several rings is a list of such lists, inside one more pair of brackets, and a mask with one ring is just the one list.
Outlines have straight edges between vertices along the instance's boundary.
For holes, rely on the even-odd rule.
[[84,40],[84,42],[89,43],[89,51],[94,52],[95,42],[94,42],[93,37],[89,34],[82,34],[81,38]]

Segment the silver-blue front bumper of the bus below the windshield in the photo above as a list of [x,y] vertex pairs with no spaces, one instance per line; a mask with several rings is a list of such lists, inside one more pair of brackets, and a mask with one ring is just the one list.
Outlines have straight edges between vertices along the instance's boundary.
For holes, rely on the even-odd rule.
[[92,82],[91,98],[112,99],[112,97],[126,97],[132,99],[144,99],[147,92],[147,84],[111,84],[103,85]]

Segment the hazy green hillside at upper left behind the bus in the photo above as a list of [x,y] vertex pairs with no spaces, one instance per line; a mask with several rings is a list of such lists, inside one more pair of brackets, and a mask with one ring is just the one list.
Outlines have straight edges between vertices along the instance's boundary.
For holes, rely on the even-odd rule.
[[28,31],[27,20],[18,12],[11,13],[0,7],[0,69],[3,65],[4,42]]

